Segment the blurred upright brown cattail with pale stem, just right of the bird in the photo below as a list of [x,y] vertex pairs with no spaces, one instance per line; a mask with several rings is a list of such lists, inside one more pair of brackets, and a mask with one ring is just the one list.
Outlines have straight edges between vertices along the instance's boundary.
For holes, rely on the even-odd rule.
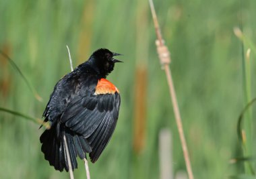
[[[134,119],[133,119],[133,150],[139,155],[143,151],[146,143],[147,133],[147,86],[148,86],[148,54],[149,41],[148,35],[148,7],[145,1],[137,1],[135,26],[135,101],[134,101]],[[143,21],[143,23],[141,23]]]

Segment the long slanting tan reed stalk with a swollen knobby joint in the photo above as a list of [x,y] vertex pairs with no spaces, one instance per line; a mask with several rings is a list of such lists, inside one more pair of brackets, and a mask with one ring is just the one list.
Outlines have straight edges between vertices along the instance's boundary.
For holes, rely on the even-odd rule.
[[193,172],[192,172],[191,163],[190,163],[190,159],[189,159],[189,152],[187,150],[187,143],[186,143],[186,139],[185,139],[185,135],[184,135],[184,131],[183,131],[181,114],[179,112],[177,97],[175,94],[174,84],[172,82],[172,75],[171,75],[170,68],[169,68],[170,52],[168,51],[168,48],[166,46],[164,46],[164,40],[162,39],[162,34],[160,32],[160,27],[158,25],[158,19],[156,16],[156,11],[154,9],[153,1],[152,0],[149,0],[149,1],[150,1],[150,9],[151,9],[152,17],[153,17],[153,21],[154,21],[154,27],[156,29],[156,36],[158,38],[158,40],[156,40],[158,56],[160,59],[160,63],[162,65],[162,69],[164,69],[166,72],[166,78],[167,78],[167,82],[168,82],[168,86],[169,86],[169,90],[170,90],[170,96],[171,96],[171,100],[172,100],[172,107],[173,107],[174,116],[175,116],[175,120],[177,123],[178,131],[179,131],[179,137],[181,139],[181,145],[182,145],[182,149],[183,149],[183,156],[185,159],[185,164],[187,167],[187,173],[188,173],[189,179],[193,179],[194,177],[193,177]]

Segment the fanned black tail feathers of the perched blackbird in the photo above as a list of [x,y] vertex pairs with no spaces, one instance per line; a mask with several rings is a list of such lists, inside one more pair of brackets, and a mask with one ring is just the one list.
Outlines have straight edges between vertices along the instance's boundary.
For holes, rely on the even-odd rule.
[[59,123],[53,125],[51,129],[46,129],[40,136],[41,150],[44,153],[45,160],[48,160],[55,170],[61,172],[64,168],[66,171],[69,170],[64,135],[67,141],[72,170],[77,168],[77,155],[83,159],[86,158],[86,153],[92,151],[88,141],[82,135],[73,133]]

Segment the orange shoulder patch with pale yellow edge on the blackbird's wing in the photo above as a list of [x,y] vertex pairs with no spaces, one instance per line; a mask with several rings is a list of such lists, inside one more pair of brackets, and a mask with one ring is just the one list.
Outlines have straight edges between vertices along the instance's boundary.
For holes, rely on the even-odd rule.
[[106,95],[119,93],[118,88],[105,78],[98,80],[94,95]]

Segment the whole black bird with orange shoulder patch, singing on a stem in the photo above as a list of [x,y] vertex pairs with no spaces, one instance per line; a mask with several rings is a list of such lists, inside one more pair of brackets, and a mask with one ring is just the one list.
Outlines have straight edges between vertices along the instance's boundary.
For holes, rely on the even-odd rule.
[[107,49],[96,50],[55,85],[43,113],[51,129],[40,136],[44,158],[55,170],[69,170],[64,135],[72,170],[77,168],[77,156],[84,159],[88,153],[96,162],[110,140],[119,116],[120,95],[106,76],[115,62],[121,62],[113,58],[118,55]]

